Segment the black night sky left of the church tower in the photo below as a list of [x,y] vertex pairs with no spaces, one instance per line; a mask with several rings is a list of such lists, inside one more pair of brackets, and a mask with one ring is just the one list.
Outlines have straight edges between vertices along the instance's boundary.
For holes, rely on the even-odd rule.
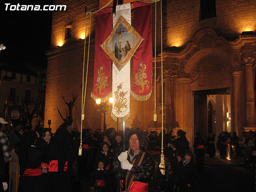
[[50,50],[52,11],[6,11],[11,5],[52,5],[53,0],[3,0],[0,2],[0,62],[7,64],[46,65]]

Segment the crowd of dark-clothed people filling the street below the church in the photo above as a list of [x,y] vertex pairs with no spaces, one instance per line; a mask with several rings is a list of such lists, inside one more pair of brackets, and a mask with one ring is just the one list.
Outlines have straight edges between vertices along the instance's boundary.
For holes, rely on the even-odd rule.
[[[158,135],[156,131],[126,128],[123,134],[114,128],[105,132],[83,129],[79,156],[80,132],[72,122],[64,122],[54,134],[49,128],[22,126],[20,120],[13,121],[12,126],[0,118],[0,192],[8,187],[15,190],[15,174],[9,183],[4,159],[18,161],[19,192],[79,192],[83,179],[95,192],[194,191],[196,178],[204,170],[205,151],[210,158],[216,153],[214,134],[209,134],[205,142],[197,132],[193,154],[186,132],[178,130],[175,135],[174,130],[169,134],[164,130],[165,166],[160,168],[161,132]],[[244,144],[252,145],[250,163],[254,164],[255,134],[248,134],[244,134]],[[222,158],[230,157],[231,152],[237,158],[243,156],[236,132],[233,136],[221,132],[217,148]]]

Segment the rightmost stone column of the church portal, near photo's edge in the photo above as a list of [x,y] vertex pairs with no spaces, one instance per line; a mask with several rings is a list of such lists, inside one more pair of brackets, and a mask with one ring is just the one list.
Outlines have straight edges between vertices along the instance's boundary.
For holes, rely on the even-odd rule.
[[244,50],[242,53],[242,62],[246,67],[246,127],[255,127],[254,121],[254,88],[252,76],[252,62],[254,56],[251,55],[252,50]]

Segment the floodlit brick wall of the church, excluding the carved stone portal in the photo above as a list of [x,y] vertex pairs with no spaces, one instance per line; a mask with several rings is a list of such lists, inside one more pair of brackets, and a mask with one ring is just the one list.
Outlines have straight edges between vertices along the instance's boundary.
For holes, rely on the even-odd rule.
[[[98,10],[99,2],[95,0],[55,0],[54,4],[67,5],[66,11],[56,11],[52,18],[51,50],[48,55],[47,84],[46,84],[46,110],[45,121],[52,120],[53,131],[62,124],[62,119],[58,114],[57,107],[63,116],[66,116],[68,107],[62,100],[72,99],[72,93],[78,94],[76,105],[73,108],[73,118],[80,128],[81,116],[81,82],[83,64],[83,43],[79,41],[85,34],[87,10]],[[216,0],[216,17],[199,22],[200,2],[191,0],[162,1],[163,19],[163,47],[185,46],[192,36],[203,27],[213,28],[219,36],[226,39],[234,39],[242,31],[256,30],[256,5],[250,0]],[[154,4],[152,7],[152,40],[154,46]],[[90,19],[88,18],[88,22]],[[63,28],[72,22],[72,39],[63,40]],[[94,64],[94,29],[95,16],[92,16],[91,24],[91,45],[90,64],[88,71],[88,86],[86,90],[86,116],[83,128],[103,129],[103,114],[97,111],[97,106],[90,97],[93,86],[93,64]],[[89,23],[88,23],[89,26]],[[87,29],[88,42],[89,28]],[[160,4],[157,6],[157,52],[160,52]],[[56,48],[59,42],[64,43],[60,48]],[[88,47],[86,47],[88,50]],[[154,50],[153,50],[154,53]],[[86,54],[87,55],[87,54]],[[87,60],[87,59],[86,59]],[[131,66],[132,68],[132,66]],[[131,73],[131,77],[132,77]],[[131,80],[131,83],[133,81]],[[154,111],[154,89],[152,96],[146,102],[138,102],[131,97],[131,116],[126,121],[126,127],[149,128],[152,126]],[[110,117],[110,108],[106,114],[107,128],[115,127],[116,122]],[[119,122],[119,129],[122,122]]]

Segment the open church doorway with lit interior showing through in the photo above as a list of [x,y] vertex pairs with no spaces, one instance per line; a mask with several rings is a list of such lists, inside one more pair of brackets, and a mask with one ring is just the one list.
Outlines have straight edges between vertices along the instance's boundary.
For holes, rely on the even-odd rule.
[[231,131],[230,88],[194,91],[194,133],[206,139],[209,133]]

